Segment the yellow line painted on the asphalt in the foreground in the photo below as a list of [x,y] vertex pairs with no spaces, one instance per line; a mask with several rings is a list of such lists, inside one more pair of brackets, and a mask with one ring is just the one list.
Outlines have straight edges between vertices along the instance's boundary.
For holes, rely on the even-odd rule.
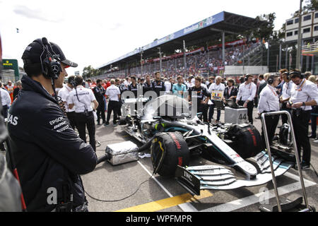
[[178,206],[182,203],[189,203],[192,201],[197,201],[202,198],[208,198],[213,196],[210,191],[201,191],[201,196],[192,196],[190,194],[183,194],[181,196],[175,196],[172,198],[165,198],[159,201],[154,201],[151,203],[145,203],[139,206],[133,206],[123,210],[117,210],[115,212],[155,212],[159,210],[164,210],[174,206]]

